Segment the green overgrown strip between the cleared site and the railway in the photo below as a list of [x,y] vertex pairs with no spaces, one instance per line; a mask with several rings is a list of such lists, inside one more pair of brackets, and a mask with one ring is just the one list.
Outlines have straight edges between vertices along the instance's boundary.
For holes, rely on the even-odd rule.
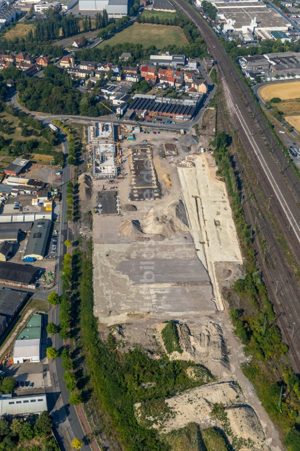
[[[225,133],[218,132],[213,145],[216,146],[214,156],[218,163],[218,173],[227,184],[236,230],[245,258],[245,278],[236,281],[233,290],[245,303],[249,302],[253,312],[249,313],[245,309],[231,311],[235,332],[245,345],[245,353],[252,355],[250,362],[243,365],[243,372],[255,386],[259,399],[280,432],[287,433],[286,437],[291,437],[291,441],[295,442],[298,434],[296,423],[299,415],[299,379],[287,359],[283,358],[287,346],[282,343],[272,304],[256,269],[255,250],[241,206],[241,193],[227,150]],[[230,298],[228,301],[230,303]],[[276,373],[274,368],[277,369]],[[286,393],[282,398],[282,413],[278,409],[281,386]],[[293,433],[289,432],[291,430]]]

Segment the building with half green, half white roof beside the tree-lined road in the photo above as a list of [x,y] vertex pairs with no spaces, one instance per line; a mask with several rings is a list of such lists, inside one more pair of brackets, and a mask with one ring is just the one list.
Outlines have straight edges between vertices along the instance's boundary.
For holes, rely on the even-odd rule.
[[34,313],[14,342],[14,364],[39,362],[42,317]]

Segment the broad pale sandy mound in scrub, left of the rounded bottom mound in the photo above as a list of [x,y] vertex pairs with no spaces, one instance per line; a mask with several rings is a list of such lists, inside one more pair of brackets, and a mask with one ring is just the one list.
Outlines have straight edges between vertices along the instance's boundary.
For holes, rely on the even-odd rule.
[[[232,405],[236,402],[236,396],[239,394],[237,387],[232,382],[208,384],[186,390],[165,400],[165,404],[171,410],[170,415],[168,419],[161,420],[158,414],[157,423],[152,427],[162,428],[163,432],[168,432],[172,429],[183,428],[192,422],[211,422],[213,420],[211,420],[210,413],[213,405],[215,403],[223,403],[225,406]],[[143,405],[137,403],[135,407],[137,416],[139,416]]]

